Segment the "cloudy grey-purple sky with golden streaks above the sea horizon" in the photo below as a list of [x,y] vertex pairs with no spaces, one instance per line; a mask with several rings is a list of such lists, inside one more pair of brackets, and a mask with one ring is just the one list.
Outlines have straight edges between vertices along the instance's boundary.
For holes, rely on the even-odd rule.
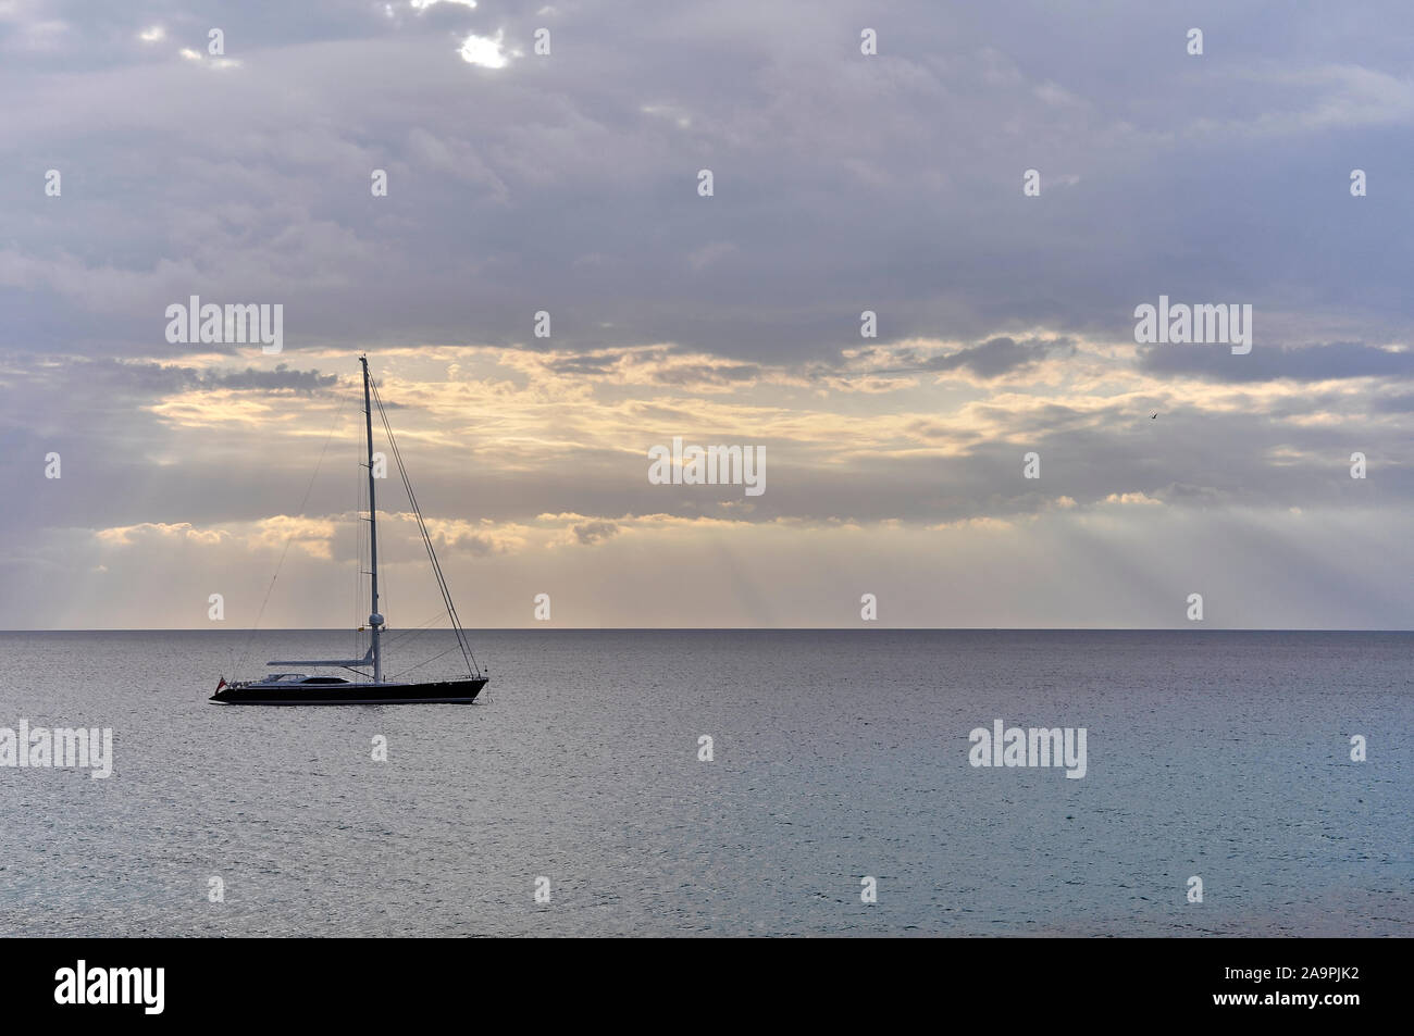
[[[1411,47],[1403,0],[0,0],[0,628],[356,625],[361,353],[468,628],[1414,628]],[[192,295],[280,352],[170,341]],[[1250,352],[1137,342],[1161,295]],[[765,492],[650,482],[674,437]]]

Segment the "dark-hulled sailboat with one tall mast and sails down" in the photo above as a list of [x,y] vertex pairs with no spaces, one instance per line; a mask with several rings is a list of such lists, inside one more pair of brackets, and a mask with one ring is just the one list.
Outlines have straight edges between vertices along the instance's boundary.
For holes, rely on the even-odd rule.
[[[368,431],[368,523],[369,523],[369,579],[370,579],[370,615],[368,616],[369,646],[362,659],[324,659],[305,661],[270,661],[267,666],[318,666],[346,669],[356,678],[349,680],[339,676],[307,676],[304,673],[274,673],[263,680],[238,680],[226,683],[225,677],[216,684],[216,693],[211,701],[223,705],[400,705],[413,702],[452,702],[469,704],[481,694],[489,677],[482,673],[472,657],[467,643],[467,633],[457,618],[457,608],[443,578],[441,565],[437,564],[437,553],[433,550],[427,524],[423,522],[421,510],[417,507],[417,498],[413,495],[411,482],[403,468],[402,454],[397,451],[397,441],[393,438],[393,428],[387,421],[383,400],[378,394],[378,384],[368,373],[368,358],[359,356],[363,366],[363,427]],[[441,589],[443,604],[451,619],[452,630],[457,635],[457,646],[467,664],[465,676],[448,680],[406,681],[387,678],[383,674],[382,633],[386,619],[378,611],[378,502],[375,499],[375,468],[373,468],[373,401],[378,401],[379,417],[387,432],[390,451],[397,461],[397,471],[402,475],[403,486],[407,489],[407,500],[417,517],[417,527],[423,534],[423,546],[431,560],[433,574]],[[361,671],[368,670],[368,671]]]

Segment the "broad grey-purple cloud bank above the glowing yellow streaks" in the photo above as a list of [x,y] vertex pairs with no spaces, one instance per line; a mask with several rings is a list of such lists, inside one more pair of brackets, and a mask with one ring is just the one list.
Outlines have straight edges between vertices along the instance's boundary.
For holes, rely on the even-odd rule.
[[[547,308],[560,345],[747,362],[829,358],[864,307],[891,341],[1121,334],[1165,291],[1367,335],[1414,315],[1403,57],[1315,8],[1191,4],[1189,58],[1141,6],[390,7],[14,6],[3,341],[180,352],[163,307],[191,293],[287,302],[291,348],[510,345]],[[205,55],[212,25],[239,65]],[[508,68],[457,57],[498,33]]]

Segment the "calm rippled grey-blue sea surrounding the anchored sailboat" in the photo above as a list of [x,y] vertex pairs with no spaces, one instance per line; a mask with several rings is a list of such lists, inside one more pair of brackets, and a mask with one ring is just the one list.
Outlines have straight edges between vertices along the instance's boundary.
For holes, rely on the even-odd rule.
[[1414,934],[1414,633],[491,630],[474,705],[208,701],[348,637],[0,633],[0,728],[112,731],[0,766],[0,934]]

